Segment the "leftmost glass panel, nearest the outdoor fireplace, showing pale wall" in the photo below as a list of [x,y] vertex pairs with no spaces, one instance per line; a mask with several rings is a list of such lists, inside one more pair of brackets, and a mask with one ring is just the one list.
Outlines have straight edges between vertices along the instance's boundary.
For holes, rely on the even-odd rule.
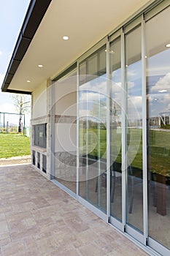
[[77,192],[77,69],[56,81],[54,178]]

